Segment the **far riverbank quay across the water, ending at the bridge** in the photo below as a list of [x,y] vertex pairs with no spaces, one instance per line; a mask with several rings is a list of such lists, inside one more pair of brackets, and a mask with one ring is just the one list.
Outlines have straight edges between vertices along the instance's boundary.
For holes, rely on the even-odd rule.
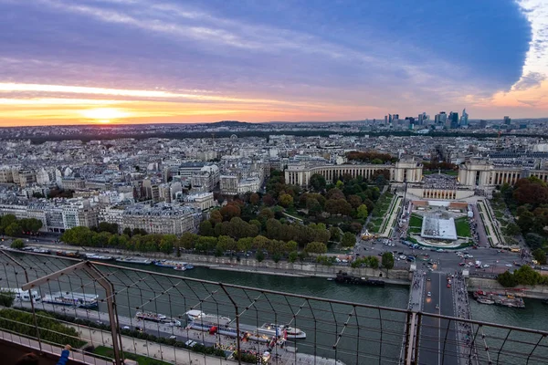
[[[131,256],[137,255],[132,251],[123,250],[108,250],[108,249],[93,249],[72,246],[72,245],[37,245],[28,244],[27,246],[46,248],[54,251],[79,251],[86,254],[98,253],[101,255],[112,256]],[[384,280],[388,284],[405,285],[408,286],[411,283],[411,273],[407,270],[385,270],[381,268],[371,267],[350,267],[350,266],[323,266],[316,263],[290,263],[287,261],[280,261],[275,263],[271,260],[264,260],[259,262],[255,258],[237,258],[228,256],[210,256],[210,255],[192,255],[182,254],[180,257],[174,255],[165,255],[161,253],[153,253],[149,255],[142,255],[142,258],[148,258],[150,260],[170,259],[177,261],[184,261],[192,264],[193,266],[202,266],[215,270],[226,271],[239,271],[254,274],[274,275],[274,276],[292,276],[292,277],[335,277],[339,271],[347,272],[352,276],[359,277],[374,277],[376,279]]]

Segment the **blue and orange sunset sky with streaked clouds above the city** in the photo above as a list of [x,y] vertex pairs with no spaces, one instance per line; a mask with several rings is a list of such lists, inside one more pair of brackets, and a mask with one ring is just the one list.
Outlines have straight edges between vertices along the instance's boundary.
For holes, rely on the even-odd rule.
[[0,0],[0,126],[548,117],[546,0]]

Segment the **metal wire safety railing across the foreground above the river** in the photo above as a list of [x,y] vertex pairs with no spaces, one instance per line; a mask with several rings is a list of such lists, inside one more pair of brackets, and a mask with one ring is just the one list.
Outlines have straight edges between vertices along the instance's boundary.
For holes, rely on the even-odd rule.
[[[102,262],[1,251],[0,278],[4,289],[30,290],[19,296],[36,294],[0,308],[4,339],[32,340],[27,346],[53,352],[71,342],[78,348],[75,357],[93,364],[140,356],[177,364],[264,358],[273,364],[322,365],[541,364],[548,358],[548,332],[539,330]],[[98,307],[85,308],[95,297]],[[47,303],[52,300],[56,303]],[[189,310],[210,316],[189,325]],[[277,326],[261,328],[269,323]],[[291,336],[294,328],[306,338]]]

